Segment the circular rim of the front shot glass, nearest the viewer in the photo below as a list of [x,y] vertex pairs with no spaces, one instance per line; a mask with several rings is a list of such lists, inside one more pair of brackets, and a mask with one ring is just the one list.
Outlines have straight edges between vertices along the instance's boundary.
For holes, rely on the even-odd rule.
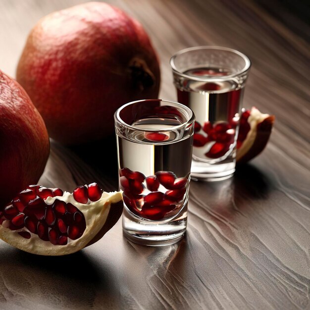
[[[132,125],[129,125],[127,124],[126,122],[124,122],[122,120],[122,118],[120,117],[119,113],[120,111],[125,108],[126,106],[128,105],[132,105],[134,103],[142,103],[142,102],[165,102],[165,103],[173,103],[173,104],[176,104],[178,107],[184,109],[186,112],[189,113],[189,119],[185,122],[183,122],[182,124],[180,125],[176,125],[176,126],[171,126],[169,128],[161,128],[161,129],[143,129],[143,128],[140,128],[140,127],[136,127],[136,126],[132,126]],[[172,131],[172,130],[178,130],[178,129],[181,129],[183,127],[186,127],[187,125],[189,125],[190,123],[194,122],[195,120],[195,115],[194,115],[194,112],[186,105],[182,104],[182,103],[178,103],[178,102],[174,102],[174,101],[170,101],[170,100],[164,100],[164,99],[142,99],[142,100],[136,100],[136,101],[132,101],[132,102],[129,102],[129,103],[125,103],[124,105],[122,105],[121,107],[119,107],[115,113],[114,113],[114,120],[116,122],[119,122],[121,123],[122,125],[126,126],[127,128],[130,128],[130,129],[133,129],[133,130],[136,130],[136,131],[143,131],[143,132],[168,132],[168,131]]]

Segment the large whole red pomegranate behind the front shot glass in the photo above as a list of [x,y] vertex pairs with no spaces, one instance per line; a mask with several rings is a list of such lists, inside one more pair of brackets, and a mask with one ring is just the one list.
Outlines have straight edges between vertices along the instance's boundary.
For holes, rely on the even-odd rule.
[[103,2],[76,5],[42,18],[32,29],[17,81],[65,144],[114,131],[124,103],[158,96],[156,53],[140,23]]

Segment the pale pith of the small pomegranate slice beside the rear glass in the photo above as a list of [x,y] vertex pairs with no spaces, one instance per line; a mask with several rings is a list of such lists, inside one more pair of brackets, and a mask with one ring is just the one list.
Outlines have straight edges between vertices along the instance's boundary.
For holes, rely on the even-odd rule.
[[257,135],[258,124],[269,116],[270,116],[269,114],[261,113],[256,107],[252,107],[250,116],[248,118],[248,123],[250,124],[250,131],[248,132],[247,138],[243,141],[240,149],[237,150],[237,156],[236,156],[237,161],[240,158],[242,158],[245,154],[247,154],[249,150],[252,148],[252,145]]

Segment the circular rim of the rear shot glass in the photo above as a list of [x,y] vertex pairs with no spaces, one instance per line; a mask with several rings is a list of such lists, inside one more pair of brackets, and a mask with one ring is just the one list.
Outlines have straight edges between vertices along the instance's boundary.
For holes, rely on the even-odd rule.
[[[184,74],[184,73],[180,72],[175,65],[175,58],[181,54],[186,53],[186,52],[197,51],[197,50],[219,50],[219,51],[232,52],[232,53],[235,53],[235,54],[237,54],[243,58],[243,60],[245,61],[245,66],[241,70],[239,70],[238,72],[232,73],[229,75],[225,75],[223,77],[218,77],[218,76],[216,76],[216,77],[196,77],[193,75],[188,75],[188,74]],[[197,47],[187,48],[187,49],[180,50],[179,52],[176,52],[170,58],[170,66],[171,66],[172,71],[174,73],[176,73],[179,76],[182,76],[184,78],[187,78],[189,80],[194,80],[194,81],[199,81],[199,82],[207,82],[207,81],[218,81],[218,82],[220,82],[220,81],[225,81],[229,78],[233,78],[233,77],[236,77],[238,75],[241,75],[241,74],[247,72],[251,67],[251,60],[244,53],[239,52],[239,51],[234,50],[234,49],[225,48],[225,47],[221,47],[221,46],[197,46]]]

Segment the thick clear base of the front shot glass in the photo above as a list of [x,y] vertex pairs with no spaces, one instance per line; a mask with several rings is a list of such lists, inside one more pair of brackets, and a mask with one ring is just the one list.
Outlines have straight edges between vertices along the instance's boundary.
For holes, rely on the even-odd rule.
[[187,204],[174,217],[147,220],[134,215],[124,205],[123,234],[134,243],[146,246],[167,246],[184,238],[187,225]]

